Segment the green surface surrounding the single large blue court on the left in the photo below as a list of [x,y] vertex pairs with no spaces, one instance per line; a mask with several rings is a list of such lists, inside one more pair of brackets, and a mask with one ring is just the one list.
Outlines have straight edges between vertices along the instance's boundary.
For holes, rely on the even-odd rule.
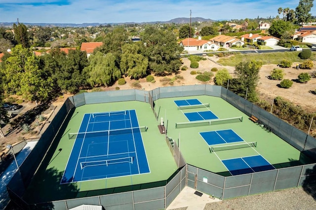
[[[85,113],[127,109],[135,109],[139,126],[148,127],[147,132],[142,132],[141,135],[150,173],[60,184],[75,141],[75,139],[70,140],[68,134],[78,132],[83,115]],[[164,182],[165,184],[166,180],[177,171],[177,165],[166,144],[165,135],[160,134],[158,122],[148,103],[129,101],[82,105],[75,109],[69,122],[65,123],[66,125],[64,126],[60,141],[52,146],[54,147],[51,148],[51,150],[54,149],[53,153],[51,153],[41,165],[39,172],[28,188],[30,193],[25,194],[26,200],[30,199],[32,202],[45,202],[51,201],[52,199],[60,200],[115,193],[126,189],[137,190],[141,187],[146,188],[146,185],[155,186],[157,182]],[[143,186],[140,184],[143,184]],[[33,196],[33,192],[36,192],[36,194],[40,196]]]

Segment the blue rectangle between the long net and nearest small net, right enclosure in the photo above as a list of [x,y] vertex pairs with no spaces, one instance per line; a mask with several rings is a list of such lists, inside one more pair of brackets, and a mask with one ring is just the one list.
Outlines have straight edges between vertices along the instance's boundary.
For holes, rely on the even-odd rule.
[[199,133],[208,145],[243,141],[232,129]]

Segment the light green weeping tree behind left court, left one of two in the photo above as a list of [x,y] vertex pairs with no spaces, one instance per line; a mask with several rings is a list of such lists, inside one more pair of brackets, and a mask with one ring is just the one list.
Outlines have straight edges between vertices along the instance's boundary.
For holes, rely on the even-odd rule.
[[101,52],[97,52],[95,55],[91,55],[89,60],[90,65],[84,71],[89,75],[88,83],[92,87],[109,86],[121,76],[112,53],[104,56]]

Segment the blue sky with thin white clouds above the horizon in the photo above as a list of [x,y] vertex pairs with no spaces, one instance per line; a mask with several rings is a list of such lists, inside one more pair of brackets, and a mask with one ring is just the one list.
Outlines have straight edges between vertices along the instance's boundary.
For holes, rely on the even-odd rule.
[[[232,20],[275,17],[299,0],[0,0],[0,22],[126,23],[178,17]],[[311,10],[316,15],[316,7]],[[280,15],[282,17],[282,15]]]

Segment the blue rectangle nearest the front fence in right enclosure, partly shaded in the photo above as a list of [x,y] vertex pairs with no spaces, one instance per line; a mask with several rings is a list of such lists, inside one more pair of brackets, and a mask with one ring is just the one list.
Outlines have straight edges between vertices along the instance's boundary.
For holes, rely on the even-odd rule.
[[222,160],[232,175],[242,175],[275,169],[261,155]]

